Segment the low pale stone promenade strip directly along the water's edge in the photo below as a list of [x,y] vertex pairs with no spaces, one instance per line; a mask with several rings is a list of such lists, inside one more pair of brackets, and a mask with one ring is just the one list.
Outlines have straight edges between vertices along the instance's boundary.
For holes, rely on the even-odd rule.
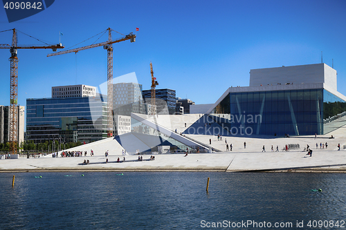
[[[116,162],[118,157],[120,162]],[[143,155],[109,155],[106,157],[57,157],[19,158],[0,160],[0,172],[14,171],[336,171],[346,172],[345,151],[313,151],[312,157],[302,151],[257,153],[190,153]],[[82,165],[84,160],[90,164]]]

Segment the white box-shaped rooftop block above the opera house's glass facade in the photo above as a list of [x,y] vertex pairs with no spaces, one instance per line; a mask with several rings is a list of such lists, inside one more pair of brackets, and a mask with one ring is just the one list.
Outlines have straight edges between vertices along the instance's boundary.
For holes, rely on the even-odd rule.
[[324,83],[337,90],[336,70],[324,63],[250,70],[250,86],[314,83]]

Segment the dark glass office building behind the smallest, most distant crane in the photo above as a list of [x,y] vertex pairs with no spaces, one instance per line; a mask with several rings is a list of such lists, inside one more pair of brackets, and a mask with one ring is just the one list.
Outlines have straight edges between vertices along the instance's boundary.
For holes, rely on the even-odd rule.
[[[162,88],[155,90],[156,113],[174,114],[176,111],[176,93],[175,90]],[[145,104],[151,104],[152,90],[143,90]],[[168,110],[168,111],[165,111]]]

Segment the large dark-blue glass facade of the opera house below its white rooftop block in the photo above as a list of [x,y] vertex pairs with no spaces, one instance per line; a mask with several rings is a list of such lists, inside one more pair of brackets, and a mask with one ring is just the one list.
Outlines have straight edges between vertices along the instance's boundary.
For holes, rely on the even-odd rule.
[[232,135],[326,134],[346,124],[346,102],[324,89],[228,94],[209,114]]

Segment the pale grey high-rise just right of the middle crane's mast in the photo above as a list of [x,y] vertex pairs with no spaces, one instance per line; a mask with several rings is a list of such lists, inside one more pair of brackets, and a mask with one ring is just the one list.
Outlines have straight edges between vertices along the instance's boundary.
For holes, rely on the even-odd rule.
[[131,115],[145,113],[142,97],[142,85],[137,83],[113,84],[114,115]]

